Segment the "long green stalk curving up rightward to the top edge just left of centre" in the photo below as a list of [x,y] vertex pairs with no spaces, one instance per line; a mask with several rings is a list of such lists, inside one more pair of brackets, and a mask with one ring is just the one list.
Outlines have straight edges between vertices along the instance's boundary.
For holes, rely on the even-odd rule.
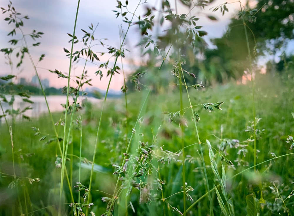
[[[134,10],[133,12],[133,16],[128,24],[128,28],[126,30],[126,34],[125,36],[123,37],[123,40],[121,41],[121,46],[119,48],[119,51],[121,52],[121,49],[123,47],[123,43],[124,41],[126,40],[126,36],[128,34],[128,31],[131,27],[131,24],[132,24],[132,21],[133,21],[133,18],[135,17],[135,12],[137,11],[139,5],[141,4],[141,0],[139,1],[138,5],[136,6],[136,9]],[[74,41],[74,40],[73,40]],[[113,70],[116,69],[116,63],[118,61],[118,55],[116,55],[116,58],[114,60],[114,64],[113,64]],[[108,81],[108,85],[107,85],[107,89],[106,89],[106,93],[105,93],[105,97],[104,97],[104,101],[102,103],[102,108],[101,108],[101,115],[100,115],[100,119],[99,119],[99,123],[98,123],[98,129],[97,129],[97,134],[96,134],[96,141],[95,141],[95,147],[94,147],[94,151],[93,151],[93,159],[92,159],[92,168],[91,168],[91,174],[90,174],[90,182],[89,182],[89,191],[91,191],[91,185],[92,185],[92,178],[93,178],[93,170],[94,170],[94,163],[95,163],[95,157],[96,157],[96,151],[97,151],[97,148],[98,148],[98,139],[99,139],[99,131],[100,131],[100,127],[101,127],[101,122],[102,122],[102,116],[103,116],[103,111],[104,111],[104,106],[105,106],[105,103],[106,103],[106,98],[107,98],[107,95],[108,95],[108,91],[109,91],[109,86],[110,86],[110,83],[111,83],[111,79],[112,79],[112,76],[113,76],[113,73],[111,73],[110,75],[110,78],[109,78],[109,81]],[[133,134],[132,134],[133,135]],[[87,204],[90,203],[90,198],[91,198],[91,195],[89,194],[88,196],[88,199],[87,199]],[[88,215],[88,208],[86,210],[86,215]]]

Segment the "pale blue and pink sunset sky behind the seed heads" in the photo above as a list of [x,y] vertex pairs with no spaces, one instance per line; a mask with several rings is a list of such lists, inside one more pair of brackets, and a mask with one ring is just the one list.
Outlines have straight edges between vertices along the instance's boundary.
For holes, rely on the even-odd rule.
[[[124,0],[122,1],[125,2]],[[139,0],[129,0],[128,10],[134,11]],[[159,0],[147,0],[149,6],[155,6],[158,8],[161,1]],[[171,6],[173,7],[173,1]],[[213,6],[223,4],[225,1],[215,0],[213,4],[206,6],[203,9],[195,9],[191,11],[191,16],[195,15],[199,17],[197,25],[203,26],[203,31],[208,32],[208,36],[205,36],[208,42],[210,38],[216,38],[222,36],[227,30],[230,17],[235,15],[236,10],[239,9],[239,4],[228,4],[229,13],[225,16],[221,16],[219,11],[212,12]],[[228,3],[233,1],[228,1]],[[245,1],[241,1],[244,2]],[[255,1],[252,1],[254,4]],[[7,9],[9,4],[8,0],[0,0],[0,7]],[[44,60],[37,64],[38,74],[41,79],[49,79],[50,86],[61,88],[67,84],[67,80],[63,78],[57,78],[56,74],[52,74],[49,70],[54,71],[55,69],[68,74],[69,71],[69,58],[66,57],[66,53],[63,51],[64,48],[67,50],[71,49],[71,43],[68,43],[70,37],[67,35],[73,34],[74,21],[76,16],[76,8],[78,1],[74,0],[51,0],[51,1],[39,1],[39,0],[13,0],[12,6],[17,12],[21,13],[21,16],[29,16],[29,20],[24,20],[23,31],[25,34],[29,34],[33,29],[37,32],[41,31],[44,33],[42,38],[38,38],[36,41],[41,42],[39,47],[31,47],[30,53],[36,64],[41,54],[45,54]],[[146,5],[142,4],[138,7],[136,14],[144,14],[146,11]],[[120,46],[120,34],[119,27],[126,31],[127,24],[122,22],[121,17],[116,19],[116,15],[112,10],[115,10],[117,6],[116,0],[98,1],[98,0],[87,0],[81,1],[78,11],[77,19],[77,30],[76,36],[80,39],[84,33],[81,29],[89,31],[88,26],[93,24],[97,26],[95,31],[95,39],[107,38],[108,40],[101,40],[105,46],[96,45],[93,46],[93,51],[98,55],[100,62],[98,64],[106,62],[111,56],[105,54],[99,56],[99,52],[106,52],[107,46],[113,46],[118,48]],[[178,3],[178,13],[187,13],[187,9]],[[211,21],[207,18],[207,15],[213,15],[218,20]],[[11,47],[8,43],[11,40],[11,36],[7,34],[12,30],[12,25],[8,25],[8,22],[4,21],[5,17],[8,16],[8,12],[0,14],[0,48]],[[133,73],[141,63],[141,55],[136,44],[139,41],[139,32],[137,26],[132,26],[130,32],[127,34],[126,46],[129,52],[126,52],[126,58],[123,58],[123,68],[126,74]],[[19,34],[15,38],[21,38]],[[28,39],[28,43],[36,43]],[[83,46],[76,44],[74,51],[80,50]],[[15,56],[13,54],[12,56]],[[109,66],[113,65],[114,58],[110,58]],[[7,65],[7,59],[4,58],[4,54],[0,53],[0,76],[7,74],[17,75],[18,82],[20,78],[26,78],[27,81],[31,81],[31,77],[35,75],[34,69],[28,56],[24,58],[24,64],[20,68],[16,68],[17,61],[13,59],[14,65],[11,71],[9,65]],[[80,76],[83,71],[84,61],[80,60],[77,64],[73,65],[71,76]],[[121,67],[121,60],[118,65]],[[122,67],[121,67],[122,68]],[[92,63],[87,63],[86,70],[88,71],[89,78],[92,78],[91,84],[97,88],[105,90],[108,84],[108,78],[106,78],[106,71],[103,71],[103,78],[100,81],[99,76],[95,76],[94,73],[98,70],[98,66]],[[126,75],[127,76],[127,75]],[[74,83],[72,83],[74,87]],[[110,89],[120,90],[123,86],[123,74],[115,74],[110,85]]]

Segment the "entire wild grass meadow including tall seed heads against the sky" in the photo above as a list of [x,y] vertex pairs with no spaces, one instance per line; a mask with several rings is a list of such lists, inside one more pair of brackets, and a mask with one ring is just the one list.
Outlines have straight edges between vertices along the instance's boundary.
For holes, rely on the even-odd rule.
[[[133,12],[139,19],[133,21],[134,16],[126,18],[131,12],[123,13],[128,1],[117,2],[122,11],[116,13],[128,28],[136,24],[141,34],[151,31],[154,11],[147,10],[144,19]],[[193,1],[181,2],[188,6]],[[197,4],[194,7],[208,2]],[[11,2],[4,11],[11,14],[6,21],[21,29],[22,20]],[[171,25],[171,35],[159,37],[158,43],[143,39],[143,47],[154,45],[157,56],[150,58],[157,58],[157,64],[154,67],[150,60],[150,73],[136,71],[130,76],[134,86],[125,79],[119,99],[108,100],[106,93],[102,105],[80,102],[80,88],[91,82],[83,72],[76,86],[68,82],[64,88],[66,112],[49,110],[38,118],[24,115],[15,120],[23,112],[14,110],[13,97],[7,101],[7,96],[31,101],[14,85],[13,75],[1,77],[8,82],[1,84],[0,105],[8,103],[11,109],[2,110],[0,124],[0,215],[294,214],[293,68],[260,74],[250,65],[246,84],[231,78],[218,84],[207,77],[205,84],[198,82],[181,52],[186,53],[189,42],[196,46],[201,40],[201,26],[195,28],[197,19],[189,14],[174,14],[168,1],[162,1],[162,13],[177,25]],[[191,28],[184,31],[183,26]],[[25,38],[23,34],[21,41]],[[87,44],[95,41],[94,33],[86,32],[81,40],[74,33],[71,38],[73,47],[86,44],[86,55],[65,51],[71,63],[82,56],[85,65],[97,60]],[[124,38],[121,47],[107,49],[114,65],[99,63],[96,75],[103,73],[100,68],[110,77],[123,73],[116,63],[125,55]],[[20,61],[24,55],[31,57],[27,44],[20,49]],[[10,57],[14,49],[1,51]],[[32,65],[38,75],[33,60]],[[53,72],[71,78],[70,69],[69,74]],[[69,97],[77,99],[69,104]]]

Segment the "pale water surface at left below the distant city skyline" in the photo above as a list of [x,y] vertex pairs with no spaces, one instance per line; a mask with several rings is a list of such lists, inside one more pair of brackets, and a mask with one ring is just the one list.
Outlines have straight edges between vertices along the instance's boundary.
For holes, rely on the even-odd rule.
[[[6,97],[8,101],[10,101],[9,96]],[[64,95],[58,95],[58,96],[46,96],[47,98],[47,102],[50,108],[51,112],[61,112],[64,110],[64,108],[61,106],[61,104],[65,104],[66,103],[66,96]],[[77,102],[81,102],[83,99],[86,99],[88,101],[90,101],[92,104],[101,104],[103,100],[101,99],[96,99],[96,98],[92,98],[92,97],[81,97]],[[48,113],[48,108],[46,105],[46,101],[44,96],[31,96],[31,98],[29,98],[29,100],[34,101],[33,104],[30,103],[25,103],[22,101],[21,97],[19,96],[15,96],[15,101],[14,101],[14,110],[16,109],[24,109],[25,107],[29,106],[32,109],[31,110],[26,110],[26,112],[24,113],[25,115],[29,116],[29,117],[37,117],[39,115],[41,115],[42,113]],[[70,97],[69,98],[70,103],[73,103],[73,98]],[[7,104],[7,103],[1,103],[3,106],[4,111],[6,109],[11,109],[11,107]],[[3,115],[2,110],[0,109],[0,115]],[[1,119],[3,120],[3,119]]]

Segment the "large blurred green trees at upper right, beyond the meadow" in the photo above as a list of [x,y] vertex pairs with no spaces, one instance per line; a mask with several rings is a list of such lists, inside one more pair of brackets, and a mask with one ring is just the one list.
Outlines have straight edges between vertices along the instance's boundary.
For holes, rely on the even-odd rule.
[[[211,40],[215,48],[204,51],[200,64],[203,77],[208,83],[238,79],[249,68],[248,51],[242,16],[245,18],[250,54],[253,60],[261,55],[271,55],[272,60],[285,52],[288,42],[294,38],[294,1],[259,0],[255,8],[249,2],[238,16],[233,17],[228,31],[221,37]],[[279,51],[279,52],[278,52]],[[288,58],[278,63],[288,62]],[[272,62],[275,66],[275,63]]]

